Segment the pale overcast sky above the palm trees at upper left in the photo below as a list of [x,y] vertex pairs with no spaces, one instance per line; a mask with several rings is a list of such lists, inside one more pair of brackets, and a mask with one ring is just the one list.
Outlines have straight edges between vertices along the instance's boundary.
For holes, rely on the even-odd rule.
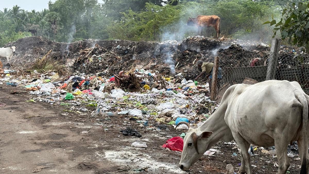
[[[56,0],[51,0],[55,2]],[[42,9],[48,9],[49,0],[0,0],[0,10],[3,11],[3,8],[12,8],[15,5],[18,5],[20,8],[31,11],[41,11]],[[103,0],[99,0],[99,3],[102,3]]]

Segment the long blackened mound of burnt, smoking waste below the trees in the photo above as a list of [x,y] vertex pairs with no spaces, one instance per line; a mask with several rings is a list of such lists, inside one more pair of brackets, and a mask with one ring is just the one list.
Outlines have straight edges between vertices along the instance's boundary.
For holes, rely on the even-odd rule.
[[[11,62],[20,67],[35,62],[39,57],[34,48],[40,48],[40,58],[52,50],[49,55],[70,69],[71,73],[100,74],[112,76],[121,70],[149,69],[177,79],[193,80],[200,72],[197,60],[213,62],[215,56],[220,58],[220,67],[247,67],[253,59],[258,58],[255,66],[267,65],[268,46],[257,45],[252,41],[219,41],[207,37],[188,37],[183,41],[126,41],[87,39],[72,43],[49,41],[44,37],[25,37],[11,42],[5,47],[17,46]],[[241,45],[241,43],[246,43]],[[68,46],[69,45],[69,46]],[[300,49],[281,46],[280,63],[294,65],[302,54]],[[307,61],[307,58],[304,59]],[[1,59],[6,64],[6,59]]]

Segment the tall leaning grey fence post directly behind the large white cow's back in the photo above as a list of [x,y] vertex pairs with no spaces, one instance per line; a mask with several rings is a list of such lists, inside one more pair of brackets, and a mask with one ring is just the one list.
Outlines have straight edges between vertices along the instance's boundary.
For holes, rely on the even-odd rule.
[[266,80],[272,80],[276,75],[278,54],[281,39],[273,39],[270,47],[269,61],[266,73]]

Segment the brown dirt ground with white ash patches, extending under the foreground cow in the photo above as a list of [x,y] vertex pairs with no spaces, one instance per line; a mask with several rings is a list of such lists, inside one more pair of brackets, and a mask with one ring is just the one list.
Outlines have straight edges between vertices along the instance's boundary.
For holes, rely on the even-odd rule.
[[[214,156],[202,156],[189,171],[178,168],[181,153],[162,148],[165,141],[180,135],[180,130],[148,131],[128,117],[78,115],[63,112],[64,106],[44,102],[25,102],[31,98],[23,89],[0,88],[0,173],[31,173],[38,166],[47,166],[40,173],[225,173],[227,164],[235,171],[241,157],[234,144],[218,142]],[[14,90],[19,94],[10,94]],[[29,118],[31,117],[31,118]],[[150,120],[150,123],[154,121]],[[126,137],[120,130],[131,126],[142,137]],[[88,133],[82,133],[86,131]],[[147,148],[131,143],[145,142]],[[259,150],[251,156],[253,173],[276,173],[277,158]],[[235,153],[237,156],[233,156]],[[235,155],[234,154],[234,155]],[[296,157],[295,157],[296,158]],[[300,161],[290,159],[290,173],[298,173]]]

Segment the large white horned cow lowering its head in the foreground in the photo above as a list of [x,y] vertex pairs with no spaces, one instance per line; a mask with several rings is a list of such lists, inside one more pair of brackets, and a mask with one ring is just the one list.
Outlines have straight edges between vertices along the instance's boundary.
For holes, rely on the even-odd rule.
[[[189,130],[179,167],[188,170],[193,163],[218,141],[235,140],[241,149],[239,174],[252,174],[248,148],[250,144],[276,147],[278,174],[285,174],[289,164],[287,147],[298,142],[302,159],[301,174],[308,173],[309,96],[297,82],[267,80],[254,85],[237,84],[229,87],[214,114],[200,127]],[[179,125],[178,124],[178,125]]]

